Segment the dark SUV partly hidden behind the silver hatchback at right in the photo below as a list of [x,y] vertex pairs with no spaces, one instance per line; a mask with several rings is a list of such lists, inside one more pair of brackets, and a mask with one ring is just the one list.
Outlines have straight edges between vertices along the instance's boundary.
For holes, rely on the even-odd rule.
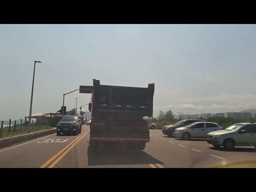
[[189,125],[191,123],[195,123],[195,122],[205,122],[204,120],[198,120],[198,119],[184,119],[184,120],[180,120],[179,122],[177,122],[174,125],[166,125],[162,128],[162,133],[164,135],[168,135],[169,137],[175,137],[174,136],[174,130],[176,128],[179,127],[183,127],[186,125]]

